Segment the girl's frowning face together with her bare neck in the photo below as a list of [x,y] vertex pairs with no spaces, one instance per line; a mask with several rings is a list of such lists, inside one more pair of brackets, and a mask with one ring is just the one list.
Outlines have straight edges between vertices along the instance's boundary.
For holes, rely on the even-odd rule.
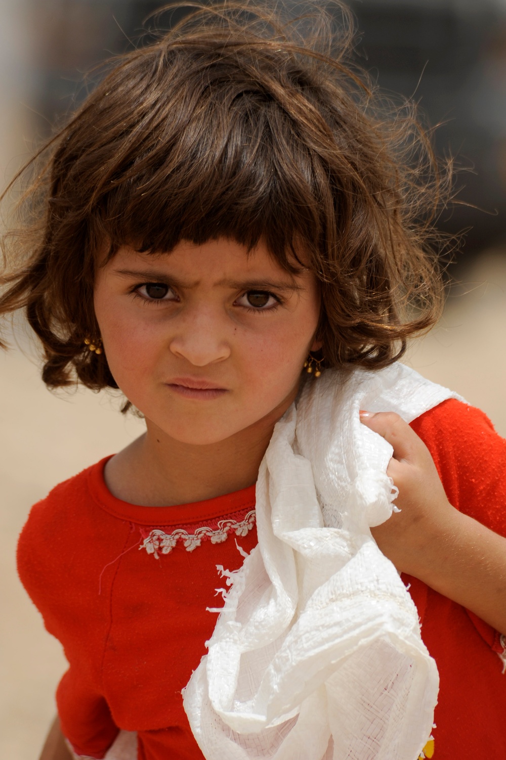
[[228,239],[157,256],[124,246],[98,268],[94,307],[110,370],[147,427],[107,464],[114,496],[174,505],[255,483],[320,347],[313,274]]

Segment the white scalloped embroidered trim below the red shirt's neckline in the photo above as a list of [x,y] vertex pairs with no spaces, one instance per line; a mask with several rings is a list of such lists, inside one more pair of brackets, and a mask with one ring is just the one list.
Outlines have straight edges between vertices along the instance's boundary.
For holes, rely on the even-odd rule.
[[220,520],[218,522],[218,528],[213,530],[211,527],[203,526],[198,527],[193,534],[189,534],[187,530],[177,528],[172,533],[164,533],[163,530],[156,528],[151,530],[148,537],[142,542],[139,549],[145,549],[148,554],[154,554],[156,559],[159,558],[158,550],[162,554],[170,554],[174,546],[178,541],[183,541],[187,552],[193,552],[197,546],[200,546],[202,540],[209,539],[211,543],[222,543],[227,540],[229,533],[234,533],[236,536],[247,536],[255,524],[255,510],[252,509],[247,513],[246,517],[240,522],[235,520]]

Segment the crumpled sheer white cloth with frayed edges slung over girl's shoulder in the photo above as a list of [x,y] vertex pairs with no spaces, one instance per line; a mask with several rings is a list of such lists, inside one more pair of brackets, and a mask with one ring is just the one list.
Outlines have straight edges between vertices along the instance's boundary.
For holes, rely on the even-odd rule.
[[410,422],[448,397],[396,364],[326,370],[275,426],[256,486],[259,544],[184,707],[208,760],[415,760],[438,670],[370,527],[390,517],[391,446],[358,411]]

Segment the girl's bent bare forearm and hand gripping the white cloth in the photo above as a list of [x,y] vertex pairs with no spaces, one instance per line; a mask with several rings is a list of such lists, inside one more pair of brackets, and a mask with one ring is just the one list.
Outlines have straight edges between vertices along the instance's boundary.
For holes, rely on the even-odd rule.
[[506,632],[506,539],[453,508],[428,448],[398,415],[361,421],[393,447],[387,474],[401,509],[374,527],[374,540],[400,572]]

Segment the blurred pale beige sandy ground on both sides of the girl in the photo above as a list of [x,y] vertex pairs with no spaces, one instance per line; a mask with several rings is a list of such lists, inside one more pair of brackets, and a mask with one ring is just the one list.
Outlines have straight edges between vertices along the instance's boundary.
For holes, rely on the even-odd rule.
[[[466,283],[460,290],[469,292],[450,299],[441,325],[413,347],[410,361],[482,407],[506,435],[506,252],[485,255]],[[142,423],[125,420],[105,395],[49,394],[19,350],[0,356],[0,394],[0,758],[33,760],[54,714],[65,660],[19,584],[16,538],[33,502],[121,448]]]

